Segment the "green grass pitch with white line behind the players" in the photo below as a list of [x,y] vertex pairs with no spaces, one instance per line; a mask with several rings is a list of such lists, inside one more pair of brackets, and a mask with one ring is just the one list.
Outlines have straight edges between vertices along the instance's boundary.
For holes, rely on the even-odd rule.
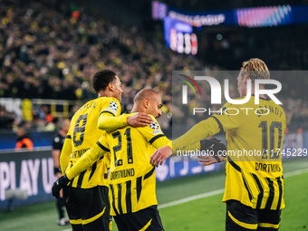
[[[284,198],[280,231],[308,230],[308,159],[284,162]],[[295,171],[295,172],[294,172]],[[296,172],[297,171],[297,172]],[[294,172],[294,175],[288,174]],[[168,231],[225,229],[226,206],[221,202],[225,173],[217,172],[190,178],[179,178],[158,183],[159,213]],[[215,191],[213,196],[207,192]],[[201,195],[200,198],[194,196]],[[207,196],[207,197],[206,197]],[[179,201],[182,199],[181,201]],[[188,202],[185,200],[190,199]],[[168,204],[174,202],[173,206]],[[55,202],[17,207],[13,212],[0,212],[1,231],[58,231],[71,230],[70,226],[56,225]],[[113,231],[117,230],[113,225]]]

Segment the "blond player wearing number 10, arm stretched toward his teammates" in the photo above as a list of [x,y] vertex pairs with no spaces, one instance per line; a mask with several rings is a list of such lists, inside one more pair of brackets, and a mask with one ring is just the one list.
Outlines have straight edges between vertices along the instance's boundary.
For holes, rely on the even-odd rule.
[[[256,79],[269,79],[267,66],[260,59],[243,63],[237,77],[241,99],[247,95],[247,82],[255,92]],[[264,86],[263,86],[264,87]],[[239,100],[241,100],[239,99]],[[229,111],[228,111],[229,109]],[[244,110],[243,110],[244,109]],[[234,114],[238,110],[237,115]],[[226,230],[278,230],[284,208],[284,178],[280,152],[286,120],[282,107],[265,95],[255,104],[253,95],[244,104],[227,102],[222,114],[203,120],[172,142],[174,150],[200,149],[194,142],[226,131]],[[202,147],[201,147],[202,149]],[[158,166],[172,154],[168,146],[156,150],[150,162]],[[199,157],[204,165],[223,161],[222,155]]]

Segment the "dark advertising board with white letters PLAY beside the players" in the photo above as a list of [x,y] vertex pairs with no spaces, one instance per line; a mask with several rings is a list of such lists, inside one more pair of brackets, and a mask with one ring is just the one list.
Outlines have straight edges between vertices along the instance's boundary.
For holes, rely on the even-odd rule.
[[28,196],[25,200],[13,198],[13,207],[52,200],[55,179],[51,150],[1,153],[0,209],[8,206],[6,189],[19,188]]

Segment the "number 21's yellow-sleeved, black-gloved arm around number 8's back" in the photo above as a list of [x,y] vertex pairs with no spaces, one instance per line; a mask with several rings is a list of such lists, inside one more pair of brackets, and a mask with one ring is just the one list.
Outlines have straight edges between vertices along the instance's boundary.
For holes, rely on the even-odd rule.
[[[70,180],[81,174],[82,171],[86,170],[87,168],[90,168],[95,161],[97,161],[110,151],[107,148],[108,144],[106,145],[106,143],[104,143],[104,140],[106,140],[105,136],[102,136],[101,140],[99,140],[94,146],[92,146],[91,149],[87,150],[82,155],[82,157],[78,159],[78,161],[72,166],[72,168],[66,171],[63,177],[58,178],[53,183],[53,197],[58,198],[60,190],[64,188]],[[104,145],[106,145],[107,147],[105,147]]]

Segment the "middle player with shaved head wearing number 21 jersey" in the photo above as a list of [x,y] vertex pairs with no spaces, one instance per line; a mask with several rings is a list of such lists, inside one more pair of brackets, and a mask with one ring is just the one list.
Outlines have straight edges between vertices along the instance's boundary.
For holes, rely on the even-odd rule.
[[[154,121],[142,128],[126,126],[106,131],[101,140],[63,177],[64,182],[65,178],[67,181],[72,180],[96,159],[110,152],[111,216],[114,216],[120,231],[163,230],[157,209],[155,167],[149,163],[153,151],[170,142],[156,120],[161,116],[161,106],[161,98],[156,91],[141,90],[135,96],[134,112],[131,113],[147,113]],[[62,187],[66,185],[63,178],[60,179]]]

